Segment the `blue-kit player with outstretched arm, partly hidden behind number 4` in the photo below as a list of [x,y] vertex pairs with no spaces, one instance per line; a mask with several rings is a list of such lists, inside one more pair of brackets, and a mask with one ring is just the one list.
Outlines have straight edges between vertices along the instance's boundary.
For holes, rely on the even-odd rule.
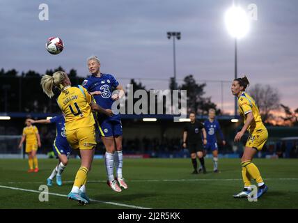
[[47,178],[47,185],[52,186],[52,180],[56,176],[56,183],[58,186],[62,185],[61,174],[68,164],[68,156],[70,155],[70,145],[65,136],[65,118],[63,115],[55,116],[50,119],[33,120],[29,119],[31,123],[56,124],[56,138],[53,143],[53,151],[58,157],[58,164],[52,171],[52,174]]

